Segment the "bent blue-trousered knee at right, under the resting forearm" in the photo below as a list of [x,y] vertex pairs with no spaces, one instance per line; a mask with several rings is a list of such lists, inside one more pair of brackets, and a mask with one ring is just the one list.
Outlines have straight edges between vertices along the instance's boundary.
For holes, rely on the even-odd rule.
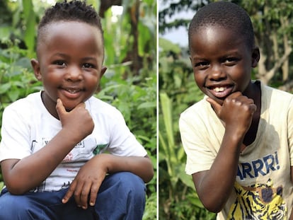
[[146,187],[128,172],[108,175],[100,186],[95,209],[99,219],[142,219]]

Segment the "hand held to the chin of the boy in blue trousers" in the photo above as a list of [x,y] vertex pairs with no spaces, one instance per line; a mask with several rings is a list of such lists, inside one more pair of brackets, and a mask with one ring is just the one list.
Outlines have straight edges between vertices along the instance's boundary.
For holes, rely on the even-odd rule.
[[84,103],[79,103],[73,110],[67,112],[62,100],[57,99],[56,110],[62,123],[62,128],[69,129],[69,134],[71,134],[71,137],[76,138],[77,142],[93,132],[93,119],[85,107]]

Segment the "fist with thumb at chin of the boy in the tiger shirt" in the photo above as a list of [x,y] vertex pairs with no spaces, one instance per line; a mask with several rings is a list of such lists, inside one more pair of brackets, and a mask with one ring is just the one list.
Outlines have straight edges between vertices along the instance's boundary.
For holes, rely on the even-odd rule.
[[207,98],[207,101],[212,105],[219,119],[224,122],[226,129],[234,133],[239,132],[238,134],[241,135],[246,134],[256,110],[256,105],[251,98],[236,92],[229,95],[223,105],[219,105],[212,98]]

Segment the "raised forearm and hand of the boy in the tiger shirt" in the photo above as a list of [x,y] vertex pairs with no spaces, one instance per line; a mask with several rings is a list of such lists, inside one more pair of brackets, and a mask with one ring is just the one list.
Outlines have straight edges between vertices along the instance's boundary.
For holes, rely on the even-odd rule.
[[246,132],[251,127],[257,106],[254,100],[237,91],[231,93],[224,102],[217,103],[207,98],[217,117],[225,127],[219,152],[209,170],[193,174],[193,181],[202,203],[212,212],[224,207],[234,187],[241,145]]

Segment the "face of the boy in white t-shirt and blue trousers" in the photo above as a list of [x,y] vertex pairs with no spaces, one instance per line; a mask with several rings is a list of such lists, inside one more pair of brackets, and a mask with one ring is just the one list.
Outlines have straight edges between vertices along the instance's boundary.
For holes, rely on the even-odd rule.
[[60,21],[45,27],[38,44],[38,61],[32,60],[35,76],[42,81],[42,100],[56,115],[57,98],[67,110],[95,93],[104,73],[103,41],[95,26]]

